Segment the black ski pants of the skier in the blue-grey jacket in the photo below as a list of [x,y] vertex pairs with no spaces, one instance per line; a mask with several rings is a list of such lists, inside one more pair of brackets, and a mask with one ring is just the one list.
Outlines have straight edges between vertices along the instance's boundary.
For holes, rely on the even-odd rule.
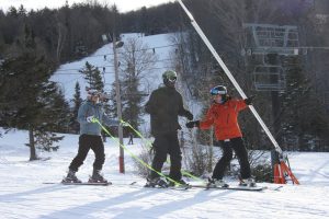
[[101,136],[81,135],[79,137],[79,149],[78,154],[72,160],[69,169],[72,171],[78,171],[78,169],[83,164],[89,150],[94,152],[94,170],[102,170],[105,162],[104,145]]

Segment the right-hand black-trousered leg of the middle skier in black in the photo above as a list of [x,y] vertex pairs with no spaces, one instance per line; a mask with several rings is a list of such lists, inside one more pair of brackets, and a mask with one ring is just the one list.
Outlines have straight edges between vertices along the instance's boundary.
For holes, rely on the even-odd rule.
[[170,132],[168,136],[168,153],[170,154],[170,173],[169,177],[174,181],[182,178],[182,152],[177,137],[177,131]]

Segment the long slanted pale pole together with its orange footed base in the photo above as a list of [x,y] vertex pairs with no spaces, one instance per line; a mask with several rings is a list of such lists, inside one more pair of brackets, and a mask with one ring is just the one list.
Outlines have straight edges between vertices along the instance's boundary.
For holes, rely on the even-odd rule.
[[[211,44],[211,42],[208,41],[206,35],[204,34],[204,32],[201,30],[201,27],[198,26],[198,24],[194,20],[191,12],[185,7],[185,4],[182,2],[182,0],[177,0],[177,1],[182,7],[183,11],[186,13],[186,15],[190,19],[192,26],[197,32],[197,34],[200,35],[202,41],[205,43],[205,45],[207,46],[207,48],[209,49],[209,51],[212,53],[214,58],[217,60],[217,62],[219,64],[219,66],[222,67],[222,69],[224,70],[224,72],[226,73],[228,79],[230,80],[230,82],[237,89],[237,91],[239,92],[241,97],[247,99],[247,95],[245,94],[245,92],[240,88],[239,83],[236,81],[236,79],[234,78],[234,76],[231,74],[231,72],[227,68],[227,66],[224,64],[223,59],[219,57],[219,55],[217,54],[217,51],[215,50],[215,48],[213,47],[213,45]],[[263,128],[263,130],[265,131],[265,134],[268,135],[268,137],[270,138],[271,142],[273,143],[273,146],[275,148],[275,157],[277,159],[275,159],[276,161],[275,161],[274,166],[273,166],[274,183],[276,183],[276,184],[286,184],[286,176],[290,176],[293,184],[298,185],[299,182],[297,181],[297,178],[292,173],[290,166],[286,164],[287,155],[285,155],[285,157],[283,155],[282,149],[280,148],[279,143],[274,139],[273,135],[271,134],[271,131],[269,130],[269,128],[266,127],[266,125],[264,124],[264,122],[262,120],[262,118],[260,117],[258,112],[256,111],[256,108],[252,105],[249,105],[249,108],[250,108],[251,113],[254,115],[254,117],[257,118],[257,120],[259,122],[259,124],[261,125],[261,127]]]

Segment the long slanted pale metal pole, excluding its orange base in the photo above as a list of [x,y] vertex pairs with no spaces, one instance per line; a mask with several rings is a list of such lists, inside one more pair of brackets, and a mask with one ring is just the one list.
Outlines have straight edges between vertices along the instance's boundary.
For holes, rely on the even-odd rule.
[[[242,89],[240,88],[240,85],[238,84],[238,82],[236,81],[236,79],[232,77],[232,74],[230,73],[230,71],[228,70],[228,68],[226,67],[226,65],[224,64],[224,61],[222,60],[222,58],[219,57],[219,55],[217,54],[217,51],[215,50],[215,48],[213,47],[213,45],[211,44],[211,42],[208,41],[208,38],[206,37],[206,35],[203,33],[203,31],[201,30],[201,27],[198,26],[198,24],[194,20],[193,15],[190,13],[190,11],[188,10],[188,8],[184,5],[184,3],[182,2],[182,0],[178,0],[178,1],[181,4],[181,7],[183,8],[183,10],[185,11],[185,13],[188,14],[189,19],[191,20],[191,24],[193,25],[193,27],[195,28],[195,31],[197,32],[197,34],[201,36],[201,38],[203,39],[203,42],[205,43],[205,45],[208,47],[208,49],[211,50],[211,53],[213,54],[213,56],[215,57],[215,59],[217,60],[217,62],[220,65],[222,69],[224,70],[224,72],[226,73],[226,76],[229,78],[230,82],[235,85],[235,88],[237,89],[237,91],[239,92],[239,94],[242,96],[242,99],[247,99],[247,95],[245,94],[245,92],[242,91]],[[281,150],[279,143],[276,142],[276,140],[272,136],[271,131],[269,130],[269,128],[266,127],[266,125],[264,124],[264,122],[262,120],[262,118],[257,113],[256,108],[252,105],[250,105],[249,108],[252,112],[252,114],[254,115],[254,117],[257,118],[257,120],[259,122],[259,124],[261,125],[261,127],[266,132],[266,135],[270,138],[270,140],[272,141],[275,150],[280,154],[282,154],[282,150]]]

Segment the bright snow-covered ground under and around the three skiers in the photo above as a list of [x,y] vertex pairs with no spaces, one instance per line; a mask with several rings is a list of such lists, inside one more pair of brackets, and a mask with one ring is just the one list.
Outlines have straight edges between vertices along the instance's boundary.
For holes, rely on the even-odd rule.
[[[145,180],[136,174],[127,153],[126,173],[118,173],[118,146],[109,138],[103,172],[113,185],[64,186],[43,183],[60,182],[66,175],[79,136],[65,135],[57,152],[38,152],[49,160],[33,162],[27,161],[24,146],[27,136],[26,131],[10,131],[0,141],[1,218],[329,218],[329,153],[290,153],[300,185],[290,183],[280,191],[172,191],[144,188]],[[134,142],[127,148],[138,154],[140,139]],[[90,152],[77,174],[83,181],[91,174],[93,158]],[[137,185],[128,185],[132,182]]]

